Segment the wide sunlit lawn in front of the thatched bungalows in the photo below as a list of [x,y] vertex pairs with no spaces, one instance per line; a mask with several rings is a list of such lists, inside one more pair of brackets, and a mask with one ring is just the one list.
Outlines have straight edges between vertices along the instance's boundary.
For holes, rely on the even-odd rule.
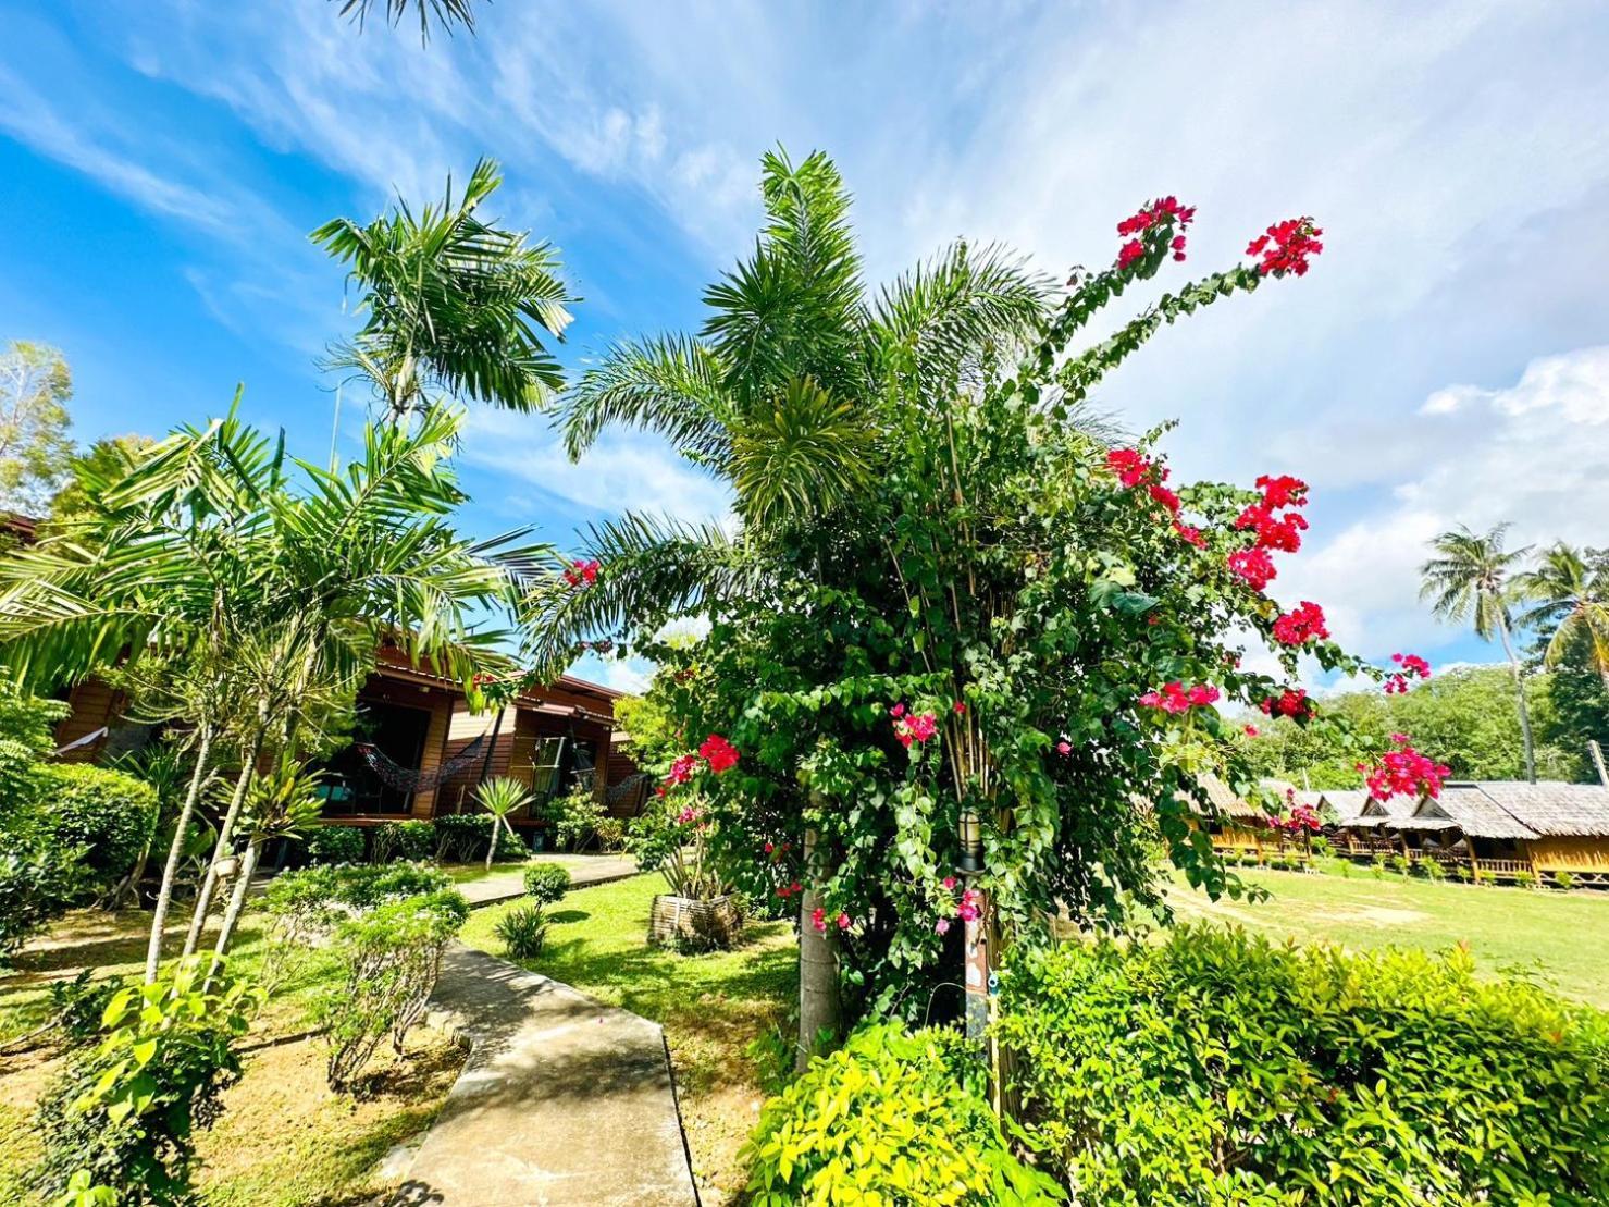
[[1430,884],[1369,867],[1350,877],[1241,869],[1266,901],[1208,901],[1183,884],[1170,893],[1181,919],[1348,948],[1450,948],[1467,943],[1487,972],[1527,972],[1561,993],[1609,1009],[1609,893]]

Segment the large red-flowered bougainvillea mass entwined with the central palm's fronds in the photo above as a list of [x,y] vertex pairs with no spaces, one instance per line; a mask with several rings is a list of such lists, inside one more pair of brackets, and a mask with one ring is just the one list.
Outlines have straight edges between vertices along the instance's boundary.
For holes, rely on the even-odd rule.
[[[796,222],[806,185],[767,180],[761,251],[853,256],[842,193]],[[1062,912],[1089,927],[1136,908],[1165,914],[1158,842],[1192,884],[1237,892],[1195,826],[1215,808],[1205,777],[1261,800],[1271,819],[1282,803],[1242,761],[1244,723],[1226,710],[1340,726],[1294,684],[1298,657],[1385,676],[1331,639],[1316,604],[1284,613],[1265,594],[1276,558],[1302,546],[1305,483],[1171,483],[1165,430],[1118,438],[1086,409],[1163,325],[1300,277],[1321,251],[1310,219],[1276,224],[1252,262],[1162,293],[1076,346],[1105,306],[1184,257],[1194,217],[1173,198],[1147,203],[1109,267],[1075,272],[1015,332],[969,343],[956,311],[1001,303],[965,295],[980,286],[962,248],[949,275],[906,278],[901,306],[870,309],[870,332],[790,343],[793,328],[767,320],[755,338],[776,343],[743,360],[751,344],[726,336],[750,328],[735,306],[718,309],[710,343],[671,349],[640,394],[599,375],[571,412],[571,431],[591,439],[611,418],[640,422],[652,391],[679,389],[681,410],[656,425],[695,463],[722,467],[745,533],[602,533],[589,549],[599,586],[544,595],[544,632],[573,642],[611,629],[661,661],[656,703],[685,732],[721,732],[743,752],[706,790],[718,858],[753,900],[798,893],[801,932],[827,945],[801,975],[837,967],[850,1011],[925,1014],[954,980],[953,922],[986,922],[998,954]],[[718,307],[743,272],[711,290]],[[843,306],[856,274],[858,261],[816,266],[798,290]],[[838,383],[853,394],[835,396]],[[822,396],[804,441],[809,388]],[[819,483],[779,518],[761,502],[800,465]],[[708,636],[655,641],[677,610],[706,616]],[[1242,669],[1249,636],[1278,676]],[[980,819],[983,872],[957,888],[962,816]]]

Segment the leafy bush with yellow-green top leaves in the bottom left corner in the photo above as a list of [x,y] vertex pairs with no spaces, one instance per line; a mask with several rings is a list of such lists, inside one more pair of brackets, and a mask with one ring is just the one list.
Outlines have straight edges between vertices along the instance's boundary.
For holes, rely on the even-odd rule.
[[116,1188],[117,1204],[191,1202],[195,1133],[240,1080],[235,1043],[261,1004],[214,956],[187,956],[153,985],[119,990],[98,1020],[100,1043],[69,1054],[39,1101],[35,1188],[64,1194],[87,1170],[87,1181]]

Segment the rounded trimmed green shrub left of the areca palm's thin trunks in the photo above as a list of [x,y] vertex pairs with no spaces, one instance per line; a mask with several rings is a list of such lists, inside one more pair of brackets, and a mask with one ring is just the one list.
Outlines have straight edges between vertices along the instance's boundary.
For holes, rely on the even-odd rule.
[[87,763],[40,764],[39,829],[60,850],[84,848],[85,887],[109,888],[132,869],[156,826],[156,789]]

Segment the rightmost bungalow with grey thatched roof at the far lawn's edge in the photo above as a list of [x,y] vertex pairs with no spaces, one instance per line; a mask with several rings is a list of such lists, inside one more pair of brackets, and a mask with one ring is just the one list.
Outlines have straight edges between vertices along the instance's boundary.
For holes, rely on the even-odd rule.
[[1567,872],[1609,885],[1609,789],[1595,784],[1448,781],[1387,827],[1409,859],[1466,864],[1493,879]]

